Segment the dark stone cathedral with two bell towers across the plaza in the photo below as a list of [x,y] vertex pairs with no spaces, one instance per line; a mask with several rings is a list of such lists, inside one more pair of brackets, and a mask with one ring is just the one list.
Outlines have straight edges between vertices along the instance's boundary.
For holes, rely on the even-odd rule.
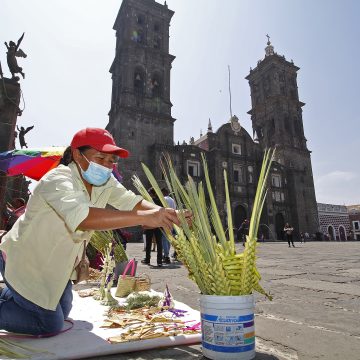
[[[283,238],[285,223],[299,232],[319,229],[311,166],[297,90],[297,67],[278,55],[269,39],[265,56],[246,77],[250,86],[253,136],[236,116],[214,131],[208,129],[189,144],[174,143],[170,72],[175,56],[169,54],[169,26],[174,12],[155,0],[123,0],[115,20],[116,53],[110,68],[112,97],[107,129],[131,156],[122,161],[124,185],[133,188],[138,174],[147,184],[141,162],[165,185],[159,162],[170,154],[185,182],[191,175],[203,180],[205,154],[216,201],[226,218],[223,169],[227,170],[234,226],[250,218],[263,152],[277,147],[269,176],[269,190],[260,232],[267,239]],[[179,120],[181,121],[181,119]]]

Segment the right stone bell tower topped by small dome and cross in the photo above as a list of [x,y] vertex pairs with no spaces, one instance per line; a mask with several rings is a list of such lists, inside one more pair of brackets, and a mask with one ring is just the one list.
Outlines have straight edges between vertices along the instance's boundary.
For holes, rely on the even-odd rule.
[[[283,216],[297,232],[318,231],[318,215],[311,151],[306,145],[302,107],[297,87],[297,71],[293,61],[274,52],[268,37],[265,58],[246,77],[251,90],[251,115],[253,131],[262,149],[277,146],[277,162],[286,169],[282,180],[287,188],[284,199],[291,209]],[[276,222],[276,219],[274,219]]]

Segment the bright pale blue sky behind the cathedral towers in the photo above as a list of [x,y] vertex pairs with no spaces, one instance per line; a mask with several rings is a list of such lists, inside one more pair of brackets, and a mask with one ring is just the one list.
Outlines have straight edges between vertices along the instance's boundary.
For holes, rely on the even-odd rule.
[[[360,203],[358,111],[360,1],[167,0],[175,15],[170,52],[175,141],[197,137],[211,118],[214,130],[232,107],[252,134],[250,89],[244,77],[264,57],[265,34],[275,51],[300,67],[298,86],[319,202]],[[19,125],[35,125],[30,147],[67,145],[86,126],[105,127],[110,107],[112,30],[121,1],[2,0],[4,41],[26,32],[19,59],[26,108]],[[131,150],[131,149],[130,149]]]

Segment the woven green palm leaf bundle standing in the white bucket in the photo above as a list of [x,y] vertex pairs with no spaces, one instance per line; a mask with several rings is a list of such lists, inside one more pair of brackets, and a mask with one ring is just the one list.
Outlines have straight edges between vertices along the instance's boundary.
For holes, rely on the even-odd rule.
[[[210,183],[209,170],[205,157],[202,156],[205,185],[196,184],[189,176],[186,185],[182,185],[175,173],[169,156],[166,164],[161,163],[162,171],[169,190],[174,194],[178,205],[181,226],[175,226],[176,234],[167,232],[166,236],[176,250],[178,258],[189,271],[189,277],[196,282],[204,295],[248,295],[254,290],[266,295],[260,286],[261,279],[256,268],[256,246],[260,217],[267,194],[267,179],[274,158],[275,150],[265,151],[259,182],[257,185],[254,206],[251,214],[249,235],[246,237],[243,252],[236,253],[235,239],[232,231],[224,230],[215,196]],[[164,206],[167,206],[159,185],[146,165],[144,172]],[[227,228],[233,229],[231,201],[224,170]],[[151,201],[146,188],[140,179],[133,176],[134,186],[139,193]],[[205,190],[209,203],[206,201]],[[193,213],[190,227],[183,215],[185,209]]]

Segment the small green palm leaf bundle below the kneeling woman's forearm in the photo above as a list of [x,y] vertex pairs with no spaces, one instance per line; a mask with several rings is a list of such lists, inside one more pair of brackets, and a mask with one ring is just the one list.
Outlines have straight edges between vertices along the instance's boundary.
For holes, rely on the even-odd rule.
[[[114,242],[114,240],[116,241]],[[109,245],[113,244],[115,262],[119,263],[129,260],[120,239],[114,231],[95,231],[90,239],[90,244],[99,251],[102,256],[105,256],[106,249]]]

